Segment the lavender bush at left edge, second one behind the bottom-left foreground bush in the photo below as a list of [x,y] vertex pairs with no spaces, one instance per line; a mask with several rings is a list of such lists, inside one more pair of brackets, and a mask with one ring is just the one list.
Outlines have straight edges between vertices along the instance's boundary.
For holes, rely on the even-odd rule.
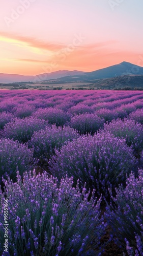
[[25,143],[31,139],[35,131],[44,129],[47,125],[48,121],[39,120],[34,117],[25,117],[24,119],[14,118],[4,126],[1,135],[4,138],[10,138]]

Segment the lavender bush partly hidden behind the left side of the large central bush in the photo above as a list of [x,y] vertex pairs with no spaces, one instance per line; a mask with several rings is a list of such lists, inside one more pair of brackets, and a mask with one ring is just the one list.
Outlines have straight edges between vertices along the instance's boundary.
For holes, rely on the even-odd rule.
[[68,141],[77,139],[79,134],[70,127],[47,126],[45,130],[35,132],[31,138],[30,145],[34,147],[34,156],[49,159],[58,149]]

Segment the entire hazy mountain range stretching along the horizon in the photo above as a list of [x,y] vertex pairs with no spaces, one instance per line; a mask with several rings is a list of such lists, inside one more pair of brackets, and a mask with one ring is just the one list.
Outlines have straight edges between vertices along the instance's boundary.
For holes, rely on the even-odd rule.
[[[12,82],[41,82],[47,80],[55,80],[55,82],[88,82],[96,79],[113,78],[123,75],[143,75],[143,67],[139,67],[130,62],[123,61],[117,65],[113,65],[104,69],[92,72],[59,70],[51,73],[39,74],[36,76],[23,76],[15,74],[0,73],[0,83]],[[57,80],[56,80],[57,79]]]

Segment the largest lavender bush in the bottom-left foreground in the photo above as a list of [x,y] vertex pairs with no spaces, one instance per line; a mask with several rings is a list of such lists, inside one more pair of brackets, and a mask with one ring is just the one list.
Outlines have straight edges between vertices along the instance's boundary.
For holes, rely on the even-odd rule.
[[[23,183],[4,181],[8,199],[9,255],[99,255],[100,238],[106,223],[101,216],[100,202],[73,178],[62,179],[60,185],[46,173],[36,176],[25,173]],[[94,193],[93,193],[94,194]],[[4,248],[4,202],[0,193],[0,252]],[[96,250],[96,251],[95,251]],[[5,255],[3,253],[3,255]]]

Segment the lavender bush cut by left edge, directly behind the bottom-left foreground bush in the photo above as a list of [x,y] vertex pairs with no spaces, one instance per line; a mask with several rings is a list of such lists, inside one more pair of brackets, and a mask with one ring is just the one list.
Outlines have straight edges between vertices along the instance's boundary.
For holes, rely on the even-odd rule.
[[0,182],[2,176],[7,175],[15,181],[16,171],[19,170],[20,175],[25,170],[33,167],[33,150],[29,150],[27,146],[10,139],[2,138],[0,140]]

